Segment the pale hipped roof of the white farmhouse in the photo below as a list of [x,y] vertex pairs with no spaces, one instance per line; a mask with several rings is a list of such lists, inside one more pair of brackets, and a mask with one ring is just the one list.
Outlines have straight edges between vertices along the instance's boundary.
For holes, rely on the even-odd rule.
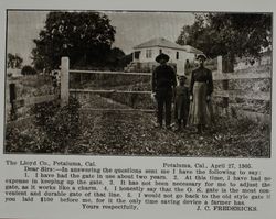
[[141,43],[139,45],[134,46],[134,48],[137,50],[137,48],[155,47],[155,46],[176,48],[176,50],[185,51],[188,53],[194,53],[194,54],[202,54],[203,53],[202,51],[200,51],[193,46],[179,45],[179,44],[173,43],[173,42],[171,42],[167,39],[163,39],[163,37],[151,39],[145,43]]

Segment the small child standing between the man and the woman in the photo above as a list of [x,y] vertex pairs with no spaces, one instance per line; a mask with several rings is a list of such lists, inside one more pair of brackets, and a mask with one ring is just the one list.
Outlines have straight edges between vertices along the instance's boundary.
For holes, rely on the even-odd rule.
[[174,91],[174,119],[178,123],[178,131],[181,130],[182,123],[185,128],[189,116],[189,88],[185,86],[185,76],[179,76],[179,85]]

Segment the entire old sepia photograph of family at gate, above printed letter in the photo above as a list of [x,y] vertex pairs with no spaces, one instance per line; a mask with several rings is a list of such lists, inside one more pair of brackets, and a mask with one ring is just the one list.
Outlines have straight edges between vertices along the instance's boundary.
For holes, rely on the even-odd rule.
[[4,153],[269,158],[272,19],[7,10]]

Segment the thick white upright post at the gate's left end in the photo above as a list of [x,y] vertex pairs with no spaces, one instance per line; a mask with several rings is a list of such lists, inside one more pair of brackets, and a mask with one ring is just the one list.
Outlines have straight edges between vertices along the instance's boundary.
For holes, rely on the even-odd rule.
[[61,106],[68,103],[68,70],[70,70],[70,59],[68,57],[62,57],[61,61]]

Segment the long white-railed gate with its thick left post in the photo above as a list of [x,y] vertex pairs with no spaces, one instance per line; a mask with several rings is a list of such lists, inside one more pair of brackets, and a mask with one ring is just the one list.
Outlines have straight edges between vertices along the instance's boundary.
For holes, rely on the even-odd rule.
[[[73,96],[82,101],[82,110],[155,112],[155,103],[150,99],[150,73],[79,70],[70,69],[68,66],[68,57],[63,57],[63,103],[68,101],[68,96]],[[144,90],[145,87],[147,90]],[[140,102],[135,102],[137,100]]]

